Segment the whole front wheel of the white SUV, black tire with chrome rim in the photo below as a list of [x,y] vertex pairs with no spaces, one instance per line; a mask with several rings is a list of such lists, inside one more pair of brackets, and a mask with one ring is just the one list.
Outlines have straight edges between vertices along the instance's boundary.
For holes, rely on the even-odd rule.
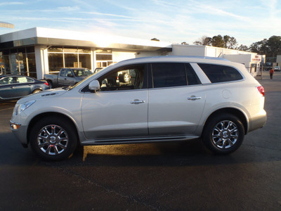
[[44,117],[30,131],[30,146],[44,160],[68,158],[74,152],[77,140],[76,128],[64,118],[55,116]]

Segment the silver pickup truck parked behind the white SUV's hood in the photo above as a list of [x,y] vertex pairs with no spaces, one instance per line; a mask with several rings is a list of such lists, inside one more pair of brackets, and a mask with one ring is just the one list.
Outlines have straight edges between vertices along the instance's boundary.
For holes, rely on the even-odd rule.
[[46,80],[51,89],[55,87],[68,87],[81,82],[93,72],[87,68],[61,68],[58,75],[45,74]]

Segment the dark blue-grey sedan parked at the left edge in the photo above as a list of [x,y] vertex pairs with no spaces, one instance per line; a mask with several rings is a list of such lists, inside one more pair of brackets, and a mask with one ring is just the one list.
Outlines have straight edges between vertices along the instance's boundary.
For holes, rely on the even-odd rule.
[[0,75],[0,100],[15,100],[49,89],[46,81],[22,75]]

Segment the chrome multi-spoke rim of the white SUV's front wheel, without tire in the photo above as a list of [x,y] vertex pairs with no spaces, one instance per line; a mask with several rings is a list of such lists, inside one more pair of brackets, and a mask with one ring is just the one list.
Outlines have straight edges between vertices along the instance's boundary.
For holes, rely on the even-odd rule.
[[37,145],[47,155],[63,153],[69,142],[67,132],[62,127],[49,124],[43,127],[37,136]]

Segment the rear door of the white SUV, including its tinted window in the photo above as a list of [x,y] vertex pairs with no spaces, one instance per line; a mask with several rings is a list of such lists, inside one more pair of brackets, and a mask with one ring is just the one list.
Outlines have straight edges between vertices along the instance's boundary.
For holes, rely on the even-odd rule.
[[152,63],[152,89],[148,95],[151,136],[194,134],[206,91],[189,64]]

